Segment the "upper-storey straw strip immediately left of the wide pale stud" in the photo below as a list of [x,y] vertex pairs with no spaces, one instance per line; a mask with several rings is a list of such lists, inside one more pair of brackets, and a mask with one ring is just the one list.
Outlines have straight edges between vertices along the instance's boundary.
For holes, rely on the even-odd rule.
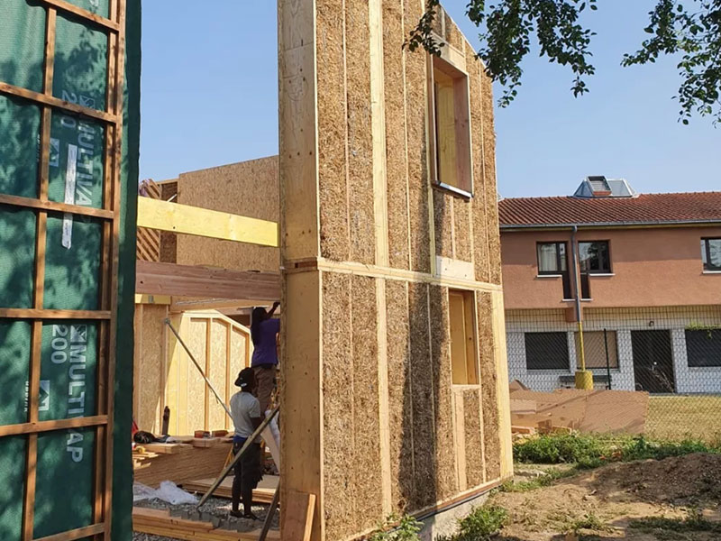
[[368,2],[345,2],[345,40],[351,44],[345,50],[351,261],[372,264],[376,254],[376,228],[368,10]]

